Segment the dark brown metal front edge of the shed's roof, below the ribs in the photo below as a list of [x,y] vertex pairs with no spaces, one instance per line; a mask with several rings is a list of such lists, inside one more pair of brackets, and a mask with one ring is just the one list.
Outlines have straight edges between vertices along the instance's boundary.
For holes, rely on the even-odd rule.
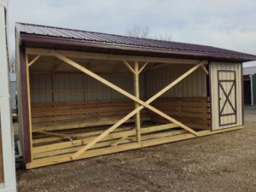
[[[182,50],[182,49],[166,49],[166,48],[156,48],[156,47],[144,47],[144,46],[136,46],[136,45],[129,45],[129,44],[109,44],[109,43],[102,43],[97,41],[88,41],[88,40],[81,40],[81,39],[74,39],[74,38],[59,38],[59,37],[50,37],[44,35],[36,35],[36,34],[27,34],[20,32],[20,44],[25,42],[31,43],[48,43],[48,44],[65,44],[65,45],[73,45],[73,46],[80,46],[80,47],[96,47],[102,49],[120,49],[120,50],[131,50],[131,51],[145,51],[148,53],[155,53],[155,54],[169,54],[169,55],[185,55],[185,56],[192,56],[192,57],[205,57],[205,58],[212,58],[222,60],[230,60],[230,61],[240,61],[240,62],[247,62],[247,61],[256,61],[256,55],[235,55],[235,54],[224,54],[224,53],[214,53],[214,52],[207,52],[207,51],[193,51],[193,50]],[[242,53],[241,53],[242,54]]]

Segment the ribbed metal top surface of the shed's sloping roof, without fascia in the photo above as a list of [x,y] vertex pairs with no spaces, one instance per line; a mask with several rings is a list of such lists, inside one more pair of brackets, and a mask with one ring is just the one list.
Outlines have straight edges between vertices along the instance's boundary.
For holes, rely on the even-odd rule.
[[[197,51],[197,52],[208,52],[224,55],[249,55],[229,49],[220,49],[212,46],[199,45],[199,44],[184,44],[171,41],[162,41],[148,38],[132,38],[127,36],[113,35],[102,32],[88,32],[81,30],[73,30],[54,26],[40,26],[25,23],[17,23],[16,29],[20,33],[49,36],[54,38],[70,38],[78,39],[83,41],[101,42],[105,44],[119,44],[119,45],[131,45],[139,47],[150,47],[160,49],[173,49],[183,51]],[[256,57],[255,57],[256,58]]]

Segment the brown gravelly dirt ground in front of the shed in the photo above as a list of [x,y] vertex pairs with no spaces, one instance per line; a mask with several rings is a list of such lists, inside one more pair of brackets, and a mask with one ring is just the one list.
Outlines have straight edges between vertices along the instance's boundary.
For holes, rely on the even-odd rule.
[[256,191],[256,108],[246,129],[29,171],[20,192]]

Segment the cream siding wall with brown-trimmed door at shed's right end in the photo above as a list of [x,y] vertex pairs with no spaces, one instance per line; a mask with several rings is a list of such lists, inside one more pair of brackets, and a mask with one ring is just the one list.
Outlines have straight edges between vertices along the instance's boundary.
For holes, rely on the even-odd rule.
[[[233,113],[233,109],[230,107],[230,104],[225,104],[224,92],[218,88],[218,72],[220,71],[229,71],[235,72],[236,78],[236,90],[233,89],[229,99],[230,102],[236,106],[236,115],[227,115],[219,117],[220,106],[226,106],[224,108],[225,114]],[[234,79],[234,73],[221,73],[219,74],[219,79],[229,80]],[[228,127],[235,127],[242,125],[242,87],[241,87],[241,64],[240,63],[229,63],[229,62],[212,62],[210,64],[210,82],[211,82],[211,95],[212,95],[212,130],[218,130]],[[231,83],[223,84],[224,89],[229,92]],[[233,91],[236,91],[235,93]]]

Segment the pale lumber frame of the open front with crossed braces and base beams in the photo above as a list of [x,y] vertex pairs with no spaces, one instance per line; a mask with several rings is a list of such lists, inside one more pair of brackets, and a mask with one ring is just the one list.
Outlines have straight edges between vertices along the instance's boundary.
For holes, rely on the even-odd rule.
[[[27,55],[36,55],[32,61],[28,62],[27,60]],[[105,131],[99,131],[96,135],[96,137],[93,137],[91,139],[84,140],[83,134],[62,134],[62,133],[53,133],[50,131],[44,131],[44,129],[38,129],[38,132],[44,135],[50,135],[53,138],[57,139],[59,138],[71,138],[71,137],[81,137],[81,139],[76,140],[75,143],[67,143],[66,145],[70,145],[71,147],[73,145],[78,145],[80,143],[80,146],[76,148],[70,148],[69,153],[73,154],[63,154],[60,155],[58,158],[59,160],[53,158],[46,158],[45,160],[32,160],[31,164],[28,164],[28,168],[32,167],[37,167],[37,166],[45,166],[45,165],[51,165],[55,164],[58,162],[65,162],[68,160],[77,160],[77,159],[82,159],[85,157],[90,157],[90,156],[96,156],[99,154],[109,154],[109,153],[114,153],[122,150],[128,150],[131,148],[141,148],[141,147],[146,147],[146,146],[151,146],[154,144],[159,144],[159,143],[168,143],[168,142],[173,142],[173,141],[178,141],[186,138],[192,138],[192,137],[201,137],[205,136],[208,134],[212,134],[209,131],[194,131],[191,128],[189,128],[187,125],[183,125],[183,123],[179,122],[177,119],[173,119],[172,117],[168,116],[166,113],[163,113],[157,108],[154,108],[152,105],[150,105],[151,102],[154,102],[157,98],[162,96],[166,91],[172,89],[172,87],[176,84],[178,84],[180,81],[185,79],[186,77],[189,76],[189,74],[195,72],[196,69],[201,68],[206,75],[208,74],[207,68],[204,67],[204,65],[207,64],[207,61],[198,61],[198,60],[182,60],[182,59],[165,59],[165,58],[147,58],[147,57],[141,57],[141,56],[125,56],[125,55],[102,55],[102,54],[89,54],[89,53],[80,53],[80,52],[74,52],[74,51],[55,51],[51,49],[26,49],[26,66],[27,66],[27,86],[28,86],[28,101],[29,101],[29,118],[30,118],[30,129],[31,129],[31,139],[32,139],[32,118],[31,118],[31,106],[30,106],[30,87],[29,87],[29,67],[32,66],[38,59],[41,57],[41,55],[51,55],[59,58],[62,62],[61,64],[65,63],[68,64],[72,67],[77,68],[79,71],[89,75],[91,78],[98,80],[102,84],[107,85],[108,87],[112,88],[113,90],[118,91],[120,94],[127,96],[130,98],[134,103],[135,103],[135,108],[134,110],[131,111],[131,113],[128,113],[123,117],[122,119],[116,120],[115,122],[111,122],[110,124],[113,123],[112,126],[110,126],[107,130]],[[134,95],[131,95],[129,92],[119,88],[119,86],[112,84],[106,79],[103,79],[96,73],[91,72],[88,68],[80,65],[79,63],[69,59],[68,57],[78,57],[78,58],[86,58],[86,59],[92,59],[92,58],[97,58],[97,59],[105,59],[105,60],[114,60],[114,61],[122,61],[125,64],[125,67],[128,68],[129,71],[133,74],[134,77]],[[151,66],[147,67],[148,62],[160,62],[162,64],[158,64],[156,66]],[[131,65],[131,63],[133,65]],[[152,70],[157,67],[165,67],[167,65],[172,65],[173,63],[183,63],[183,64],[190,64],[193,65],[187,72],[183,73],[179,78],[174,80],[172,83],[167,84],[166,87],[164,87],[162,90],[157,92],[154,96],[149,98],[146,102],[143,102],[143,100],[140,99],[140,93],[139,93],[139,74],[143,73],[144,71],[147,70]],[[55,65],[55,68],[59,67],[61,64]],[[147,68],[146,68],[147,67]],[[154,131],[153,128],[143,128],[141,127],[141,110],[143,108],[148,108],[151,110],[153,113],[159,114],[161,117],[164,119],[167,119],[171,124],[166,124],[166,125],[160,125],[159,127],[155,127],[154,129],[169,129],[170,127],[180,127],[183,128],[182,131],[173,131],[172,133],[158,133],[154,134],[155,136],[143,136],[142,134],[147,132],[147,129],[150,129],[151,131]],[[120,125],[125,123],[126,121],[129,121],[132,116],[135,116],[135,125],[136,125],[136,137],[133,137],[133,132],[134,131],[124,131],[126,132],[126,135],[124,133],[119,133],[118,131],[115,131]],[[108,124],[106,124],[108,125]],[[61,127],[61,125],[60,125]],[[65,128],[65,125],[63,125]],[[81,124],[82,127],[82,124]],[[68,127],[67,127],[68,129]],[[123,128],[119,128],[123,129]],[[237,128],[236,128],[237,129]],[[149,130],[148,130],[149,131]],[[184,133],[189,132],[189,133]],[[216,133],[221,132],[221,131],[216,131]],[[178,136],[173,136],[177,134],[182,134]],[[122,137],[120,137],[120,134]],[[169,134],[169,135],[168,135]],[[115,137],[112,137],[115,136]],[[171,138],[172,136],[172,138]],[[163,137],[163,139],[156,139],[157,137]],[[170,137],[170,138],[169,138]],[[108,139],[115,138],[116,140],[111,143],[111,141],[108,141]],[[152,139],[152,140],[147,140],[147,139]],[[43,140],[42,140],[43,141]],[[54,140],[53,140],[54,141]],[[131,143],[135,142],[136,143]],[[38,140],[39,142],[39,140]],[[32,143],[32,141],[31,141]],[[124,144],[126,143],[126,144]],[[62,144],[60,144],[61,146]],[[110,147],[108,147],[110,145]],[[58,145],[55,145],[58,146]],[[65,145],[63,145],[64,147]],[[99,148],[97,149],[97,146],[106,146],[106,148]],[[95,149],[96,148],[96,149]],[[89,150],[90,149],[90,150]],[[35,152],[40,152],[40,150],[43,150],[43,148],[32,148],[32,154],[35,155]],[[60,148],[60,150],[62,150]],[[89,151],[87,151],[89,150]],[[47,152],[47,151],[45,151]],[[86,152],[86,153],[84,153]],[[47,152],[51,154],[51,152]],[[39,157],[41,154],[36,154],[37,157]],[[39,155],[39,156],[38,156]],[[42,155],[41,155],[42,156]],[[57,158],[57,157],[56,157]],[[48,161],[47,161],[48,160]]]

